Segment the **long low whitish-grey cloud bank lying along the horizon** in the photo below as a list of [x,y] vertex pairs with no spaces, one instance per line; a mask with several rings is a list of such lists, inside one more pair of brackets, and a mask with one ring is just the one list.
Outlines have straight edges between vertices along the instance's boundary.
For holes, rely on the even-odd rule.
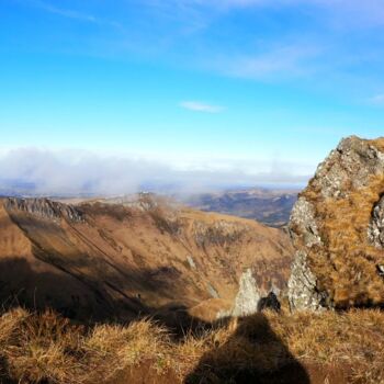
[[143,190],[196,193],[261,184],[302,185],[308,180],[305,171],[295,174],[290,169],[292,165],[249,161],[177,168],[155,160],[88,151],[21,148],[0,155],[0,193],[118,195]]

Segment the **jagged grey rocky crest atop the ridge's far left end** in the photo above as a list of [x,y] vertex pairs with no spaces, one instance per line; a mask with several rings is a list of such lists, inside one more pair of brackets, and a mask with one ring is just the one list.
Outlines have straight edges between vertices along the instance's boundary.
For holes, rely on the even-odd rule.
[[60,221],[63,217],[77,223],[83,221],[81,212],[75,206],[48,199],[9,197],[5,200],[4,206],[9,212],[20,211],[52,221]]

